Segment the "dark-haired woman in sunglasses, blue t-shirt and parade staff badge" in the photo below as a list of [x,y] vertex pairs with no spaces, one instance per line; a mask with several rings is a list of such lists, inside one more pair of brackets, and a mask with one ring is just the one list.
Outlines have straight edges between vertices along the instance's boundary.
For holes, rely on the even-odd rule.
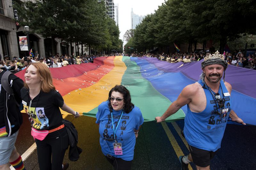
[[131,169],[134,146],[143,117],[131,103],[129,90],[116,85],[109,91],[108,101],[98,107],[101,151],[115,170]]

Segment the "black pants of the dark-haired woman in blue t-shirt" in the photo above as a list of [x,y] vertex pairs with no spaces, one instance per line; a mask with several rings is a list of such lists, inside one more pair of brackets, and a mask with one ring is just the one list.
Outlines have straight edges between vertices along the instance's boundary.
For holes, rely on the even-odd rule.
[[111,163],[114,170],[130,170],[132,167],[132,160],[127,161],[121,158],[110,159],[106,156],[108,162]]

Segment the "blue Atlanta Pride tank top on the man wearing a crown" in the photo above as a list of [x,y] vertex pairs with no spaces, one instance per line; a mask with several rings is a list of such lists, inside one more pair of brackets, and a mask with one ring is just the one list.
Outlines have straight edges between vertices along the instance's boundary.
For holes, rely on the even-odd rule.
[[[198,83],[204,86],[202,80],[198,81]],[[231,97],[223,80],[220,81],[220,84],[222,87],[222,98],[225,100],[225,109],[228,109],[227,113],[219,115],[216,112],[220,113],[220,108],[216,103],[217,100],[213,99],[208,89],[204,89],[207,101],[204,111],[195,113],[188,107],[188,113],[184,120],[184,135],[191,146],[213,152],[220,148],[228,115],[232,107]],[[218,93],[221,94],[221,88]]]

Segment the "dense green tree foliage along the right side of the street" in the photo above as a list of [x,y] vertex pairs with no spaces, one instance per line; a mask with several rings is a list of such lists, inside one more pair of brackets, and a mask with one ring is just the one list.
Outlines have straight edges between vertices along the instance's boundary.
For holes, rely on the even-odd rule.
[[255,34],[255,7],[253,0],[167,0],[136,27],[133,42],[145,50],[211,39],[222,51],[227,39]]

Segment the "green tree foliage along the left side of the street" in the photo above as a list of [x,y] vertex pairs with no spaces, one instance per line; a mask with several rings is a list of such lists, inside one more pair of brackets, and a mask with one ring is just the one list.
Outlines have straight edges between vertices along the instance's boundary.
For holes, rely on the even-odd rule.
[[117,50],[120,45],[119,28],[106,15],[104,2],[97,0],[36,0],[26,1],[14,8],[31,32],[47,37]]

